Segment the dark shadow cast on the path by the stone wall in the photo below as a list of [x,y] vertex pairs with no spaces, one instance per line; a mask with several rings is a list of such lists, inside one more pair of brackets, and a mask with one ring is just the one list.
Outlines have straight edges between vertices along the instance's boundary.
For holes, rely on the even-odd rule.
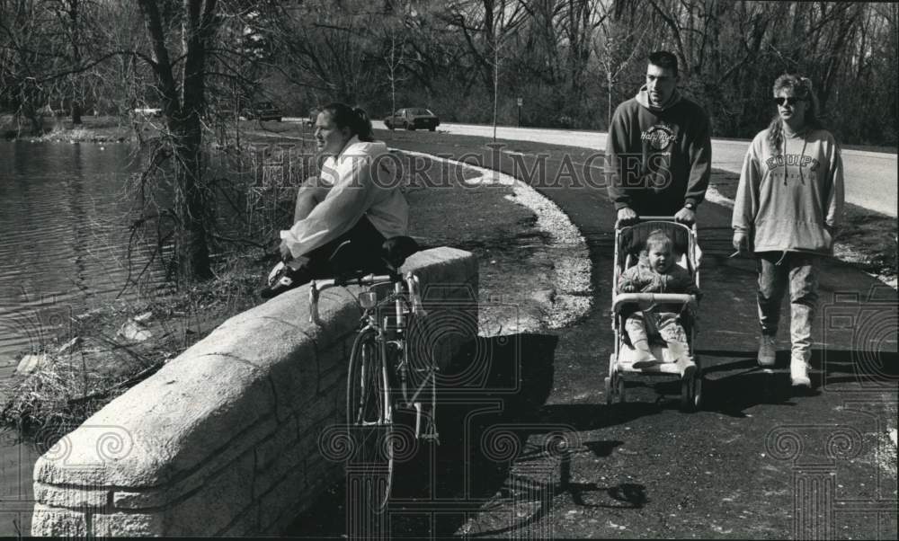
[[[437,391],[440,444],[418,441],[411,457],[396,461],[391,502],[373,536],[452,536],[469,516],[485,512],[482,508],[497,495],[516,499],[512,492],[541,490],[514,482],[510,487],[507,480],[514,478],[513,463],[528,462],[553,445],[564,447],[564,434],[572,428],[569,421],[556,422],[556,416],[548,421],[539,417],[553,388],[557,341],[544,334],[479,337],[442,371]],[[414,416],[399,412],[396,419],[411,421]],[[558,466],[554,468],[557,472]],[[359,531],[346,522],[344,484],[344,479],[333,483],[284,535],[341,537],[348,529]],[[633,487],[609,490],[625,500],[636,498]],[[508,517],[503,524],[509,524]]]

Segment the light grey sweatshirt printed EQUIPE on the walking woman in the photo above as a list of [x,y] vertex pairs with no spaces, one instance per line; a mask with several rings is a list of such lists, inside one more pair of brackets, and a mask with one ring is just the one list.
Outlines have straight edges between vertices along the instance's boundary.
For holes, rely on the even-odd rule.
[[775,150],[764,129],[752,139],[734,200],[734,231],[754,252],[832,253],[828,227],[840,226],[844,204],[840,148],[830,132],[784,134]]

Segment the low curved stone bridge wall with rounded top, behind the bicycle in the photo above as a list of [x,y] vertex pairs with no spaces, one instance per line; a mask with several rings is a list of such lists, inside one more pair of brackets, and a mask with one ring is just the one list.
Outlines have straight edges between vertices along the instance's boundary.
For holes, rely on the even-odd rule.
[[[477,333],[471,253],[416,253],[441,364]],[[221,324],[60,439],[34,468],[33,536],[278,534],[343,464],[323,449],[343,422],[358,288],[307,286]],[[444,323],[441,323],[444,322]]]

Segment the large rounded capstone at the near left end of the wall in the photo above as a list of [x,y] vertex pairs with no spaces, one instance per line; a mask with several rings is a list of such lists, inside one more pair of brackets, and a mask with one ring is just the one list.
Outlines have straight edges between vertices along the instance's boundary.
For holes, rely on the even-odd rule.
[[169,363],[40,457],[34,480],[131,488],[175,483],[216,455],[233,459],[273,431],[273,421],[263,418],[272,404],[271,383],[259,368],[221,355]]

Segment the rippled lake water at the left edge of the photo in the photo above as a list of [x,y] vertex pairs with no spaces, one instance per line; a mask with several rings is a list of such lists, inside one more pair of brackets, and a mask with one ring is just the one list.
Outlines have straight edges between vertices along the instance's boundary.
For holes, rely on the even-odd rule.
[[[18,354],[119,295],[129,272],[129,152],[121,144],[0,142],[0,407]],[[149,254],[138,247],[135,272]],[[148,272],[150,283],[165,278],[161,265]],[[16,535],[16,525],[31,533],[31,471],[40,453],[16,436],[0,429],[0,537]]]

